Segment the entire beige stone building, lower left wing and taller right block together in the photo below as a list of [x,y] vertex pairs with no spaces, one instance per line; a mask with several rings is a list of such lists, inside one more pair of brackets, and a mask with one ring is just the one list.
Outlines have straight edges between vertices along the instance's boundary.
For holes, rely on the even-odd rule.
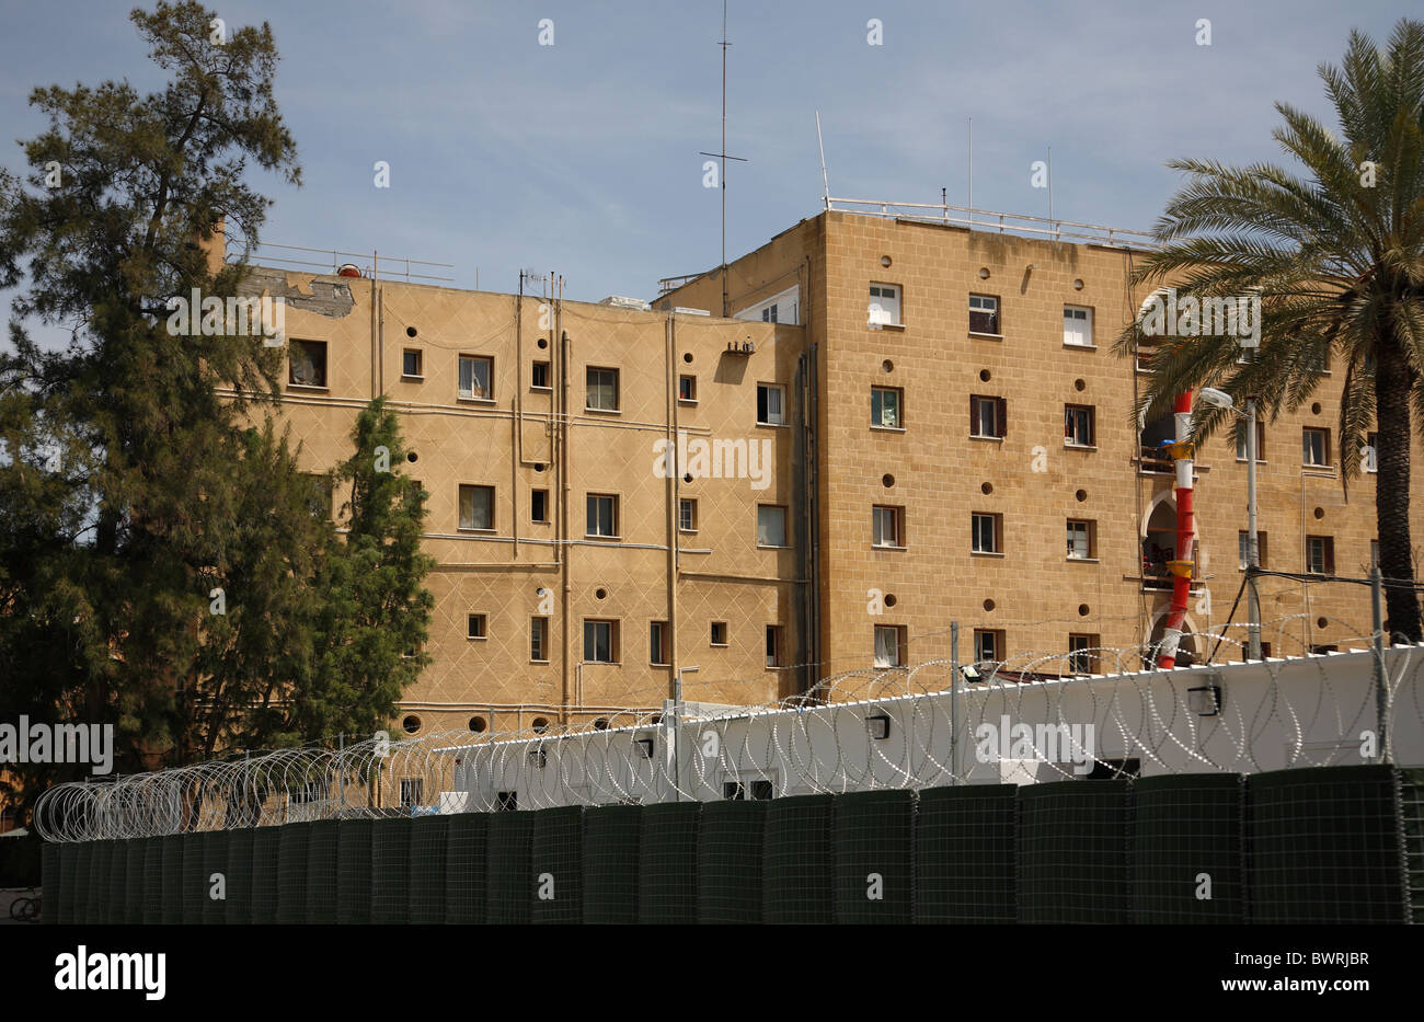
[[[433,663],[402,706],[420,734],[618,723],[679,672],[688,702],[765,703],[947,660],[951,622],[963,662],[1138,668],[1176,512],[1169,420],[1139,431],[1141,366],[1109,350],[1146,296],[1132,260],[1106,232],[830,209],[651,309],[255,285],[285,299],[282,414],[310,471],[372,397],[402,416],[437,562]],[[1339,390],[1259,431],[1267,569],[1368,571],[1374,484],[1340,485]],[[1190,636],[1232,611],[1245,494],[1230,436],[1198,450]],[[1273,655],[1370,632],[1367,589],[1260,591]]]

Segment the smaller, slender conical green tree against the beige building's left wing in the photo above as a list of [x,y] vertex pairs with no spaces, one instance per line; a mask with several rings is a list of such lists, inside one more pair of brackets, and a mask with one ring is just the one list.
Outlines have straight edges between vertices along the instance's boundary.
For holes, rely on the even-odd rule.
[[406,447],[396,414],[376,399],[356,417],[355,453],[335,473],[350,500],[340,511],[345,542],[318,569],[320,592],[309,686],[293,699],[303,734],[366,733],[396,712],[420,675],[434,598],[424,589],[431,558],[420,551],[426,494],[399,474]]

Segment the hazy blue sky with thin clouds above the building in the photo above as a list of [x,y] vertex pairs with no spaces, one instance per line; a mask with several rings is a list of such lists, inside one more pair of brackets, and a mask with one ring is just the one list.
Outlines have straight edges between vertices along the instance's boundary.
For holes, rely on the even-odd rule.
[[[127,3],[0,3],[0,162],[41,122],[31,87],[157,68]],[[253,3],[305,184],[253,178],[275,199],[268,242],[454,263],[456,286],[514,290],[521,266],[567,296],[652,297],[661,276],[719,260],[719,0],[698,3]],[[900,202],[967,196],[1032,215],[1031,165],[1052,147],[1054,212],[1149,228],[1178,155],[1279,159],[1280,100],[1327,117],[1316,65],[1358,27],[1383,43],[1413,3],[909,3],[731,0],[728,252],[820,209],[815,111],[833,195]],[[538,23],[554,21],[540,46]],[[883,44],[867,44],[879,19]],[[1196,23],[1210,20],[1212,44]],[[390,188],[373,164],[390,164]]]

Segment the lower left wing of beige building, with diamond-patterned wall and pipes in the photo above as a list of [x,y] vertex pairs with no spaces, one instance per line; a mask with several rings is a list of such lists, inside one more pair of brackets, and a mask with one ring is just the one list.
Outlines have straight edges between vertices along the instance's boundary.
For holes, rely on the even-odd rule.
[[688,702],[807,685],[805,330],[266,268],[251,286],[283,299],[303,468],[349,457],[384,394],[429,494],[433,663],[406,732],[617,723],[679,668]]

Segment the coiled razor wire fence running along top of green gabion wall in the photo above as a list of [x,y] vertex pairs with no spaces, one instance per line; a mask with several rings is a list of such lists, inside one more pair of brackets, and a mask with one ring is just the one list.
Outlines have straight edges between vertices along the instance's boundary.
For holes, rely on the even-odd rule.
[[[1243,645],[1227,631],[1210,641]],[[1343,652],[1175,670],[1141,669],[1139,648],[933,659],[843,672],[763,706],[685,706],[679,716],[669,700],[597,722],[550,722],[538,732],[382,732],[337,747],[60,784],[37,800],[34,824],[46,840],[68,843],[313,820],[1069,780],[1089,771],[1424,763],[1424,648],[1397,645],[1376,656],[1371,639],[1341,639]]]

